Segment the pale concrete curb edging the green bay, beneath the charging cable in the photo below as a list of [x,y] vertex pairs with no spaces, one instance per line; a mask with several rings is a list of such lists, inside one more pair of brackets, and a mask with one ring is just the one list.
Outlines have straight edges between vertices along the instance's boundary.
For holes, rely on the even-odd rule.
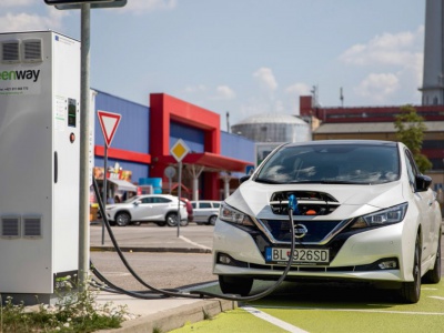
[[226,300],[199,300],[193,304],[180,305],[154,314],[140,316],[122,323],[122,327],[101,330],[100,333],[148,333],[170,332],[182,327],[186,323],[196,323],[215,316],[221,312],[234,310],[238,302]]

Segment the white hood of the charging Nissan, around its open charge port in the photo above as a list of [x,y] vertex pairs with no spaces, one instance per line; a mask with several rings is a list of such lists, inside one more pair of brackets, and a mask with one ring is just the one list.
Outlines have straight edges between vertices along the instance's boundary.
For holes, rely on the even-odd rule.
[[[329,219],[343,220],[379,211],[405,202],[401,181],[376,185],[351,184],[263,184],[244,182],[225,202],[231,206],[259,219],[275,219],[270,200],[275,192],[312,191],[334,198],[339,206]],[[303,216],[325,219],[326,215]]]

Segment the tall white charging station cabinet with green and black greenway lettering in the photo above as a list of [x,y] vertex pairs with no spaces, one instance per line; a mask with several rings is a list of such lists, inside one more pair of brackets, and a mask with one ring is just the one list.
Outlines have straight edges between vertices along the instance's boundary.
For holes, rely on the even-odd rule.
[[79,270],[80,42],[0,33],[0,293],[50,303]]

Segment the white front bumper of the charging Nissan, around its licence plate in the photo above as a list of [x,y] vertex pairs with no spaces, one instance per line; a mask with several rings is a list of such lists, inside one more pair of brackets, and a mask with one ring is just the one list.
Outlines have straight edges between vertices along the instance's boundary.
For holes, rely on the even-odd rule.
[[[403,243],[403,223],[372,229],[351,235],[342,244],[327,265],[293,265],[287,276],[314,279],[344,279],[403,282],[413,281],[413,259],[410,248]],[[279,245],[282,248],[282,244]],[[290,244],[286,244],[290,249]],[[296,243],[296,248],[300,246]],[[310,245],[305,245],[310,246]],[[329,244],[323,245],[329,248]],[[403,253],[404,251],[404,253]],[[221,263],[220,255],[233,261]],[[381,269],[384,260],[396,261],[395,269]],[[213,273],[218,275],[244,275],[274,280],[282,275],[284,264],[265,262],[263,252],[250,233],[218,220],[213,234]]]

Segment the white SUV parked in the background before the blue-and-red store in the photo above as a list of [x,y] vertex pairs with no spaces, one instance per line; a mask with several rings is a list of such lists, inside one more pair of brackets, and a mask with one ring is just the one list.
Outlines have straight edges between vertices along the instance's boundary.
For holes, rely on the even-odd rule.
[[[140,222],[155,222],[160,226],[178,225],[179,200],[169,194],[132,196],[122,203],[107,204],[107,218],[111,225],[125,226]],[[185,204],[180,202],[181,225],[188,225]]]

